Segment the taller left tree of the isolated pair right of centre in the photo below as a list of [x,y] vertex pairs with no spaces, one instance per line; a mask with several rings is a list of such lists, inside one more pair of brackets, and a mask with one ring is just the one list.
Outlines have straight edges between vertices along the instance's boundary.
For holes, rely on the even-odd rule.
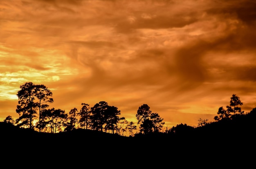
[[141,133],[147,134],[153,128],[153,123],[150,121],[151,110],[147,104],[143,104],[137,110],[136,118],[138,120]]

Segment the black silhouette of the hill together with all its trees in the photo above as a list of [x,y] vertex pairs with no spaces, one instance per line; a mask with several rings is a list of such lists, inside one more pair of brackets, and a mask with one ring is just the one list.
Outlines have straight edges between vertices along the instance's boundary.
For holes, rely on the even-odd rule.
[[[200,119],[198,127],[181,123],[163,131],[163,118],[147,104],[139,106],[135,115],[137,130],[136,122],[128,122],[106,101],[94,106],[81,103],[80,110],[72,108],[67,113],[48,109],[46,103],[53,99],[46,86],[28,82],[20,88],[19,118],[7,116],[0,122],[2,161],[9,167],[191,168],[191,164],[201,165],[202,159],[213,167],[218,163],[208,156],[218,153],[227,161],[231,156],[241,156],[238,151],[242,150],[244,157],[245,150],[255,142],[256,108],[244,113],[236,94],[226,108],[219,108],[215,122]],[[124,136],[125,131],[130,136]]]

